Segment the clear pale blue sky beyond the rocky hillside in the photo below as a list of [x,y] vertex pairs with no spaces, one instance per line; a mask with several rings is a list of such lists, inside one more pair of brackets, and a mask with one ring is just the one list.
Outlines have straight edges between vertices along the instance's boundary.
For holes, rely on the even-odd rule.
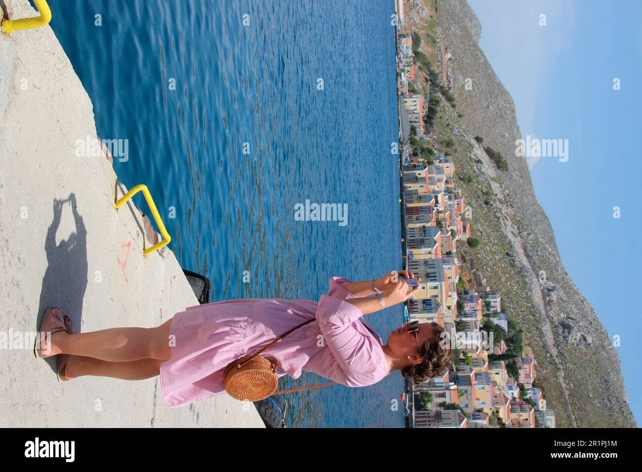
[[620,336],[622,374],[642,424],[642,308],[635,295],[642,262],[642,2],[468,3],[482,22],[480,46],[515,101],[523,139],[569,140],[567,162],[529,162],[535,195],[568,274],[609,336]]

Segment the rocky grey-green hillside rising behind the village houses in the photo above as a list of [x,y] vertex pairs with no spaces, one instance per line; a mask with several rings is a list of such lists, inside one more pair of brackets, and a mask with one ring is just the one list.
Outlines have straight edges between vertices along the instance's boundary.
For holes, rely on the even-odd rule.
[[[526,160],[515,155],[521,133],[514,103],[479,48],[480,22],[464,0],[409,0],[405,6],[408,26],[421,35],[422,51],[454,97],[450,103],[442,98],[429,134],[438,150],[453,155],[457,184],[472,211],[465,219],[482,240],[476,249],[464,244],[458,251],[467,276],[478,271],[502,292],[507,316],[524,331],[525,354],[535,357],[537,383],[558,427],[635,427],[618,353],[564,270]],[[425,75],[415,78],[426,93],[427,68],[420,66]],[[465,89],[467,78],[472,90]],[[507,170],[499,170],[487,146],[501,153]]]

